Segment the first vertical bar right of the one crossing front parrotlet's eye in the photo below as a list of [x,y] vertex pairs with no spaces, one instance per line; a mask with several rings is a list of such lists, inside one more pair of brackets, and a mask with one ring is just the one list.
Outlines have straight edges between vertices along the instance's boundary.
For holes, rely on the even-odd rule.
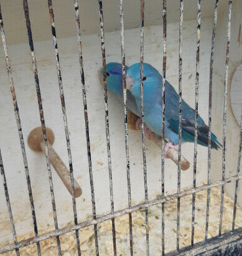
[[[163,67],[162,67],[162,120],[161,120],[161,197],[165,196],[165,71],[166,71],[166,0],[163,0],[162,6],[162,19],[163,19]],[[161,246],[162,255],[165,255],[165,203],[161,205]]]

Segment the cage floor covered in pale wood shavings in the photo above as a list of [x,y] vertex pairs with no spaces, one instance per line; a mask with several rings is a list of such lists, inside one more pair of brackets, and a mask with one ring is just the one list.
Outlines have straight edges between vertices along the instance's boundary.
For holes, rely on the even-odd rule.
[[[208,238],[218,235],[220,214],[219,188],[213,188],[210,192],[210,217],[208,227]],[[200,242],[205,237],[207,192],[203,190],[196,196],[195,209],[195,236],[194,242]],[[176,249],[176,220],[177,200],[165,203],[165,252]],[[191,237],[191,213],[192,197],[187,195],[180,200],[180,247],[190,245]],[[233,200],[225,195],[223,210],[222,232],[231,230],[231,217],[233,216]],[[145,210],[139,210],[132,214],[133,217],[133,241],[134,255],[146,254],[146,228]],[[117,254],[129,255],[129,217],[124,215],[115,219]],[[242,210],[237,208],[235,228],[242,225]],[[47,230],[42,230],[41,234]],[[80,230],[81,255],[95,254],[95,239],[93,227]],[[98,242],[100,255],[113,255],[111,221],[98,225]],[[29,234],[17,237],[18,240],[29,238]],[[63,256],[77,255],[75,233],[60,236]],[[149,209],[149,245],[151,255],[161,255],[161,205],[155,205]],[[40,242],[42,255],[57,255],[57,244],[55,239]],[[37,255],[36,245],[29,245],[20,249],[21,255]],[[4,254],[16,255],[15,251]]]

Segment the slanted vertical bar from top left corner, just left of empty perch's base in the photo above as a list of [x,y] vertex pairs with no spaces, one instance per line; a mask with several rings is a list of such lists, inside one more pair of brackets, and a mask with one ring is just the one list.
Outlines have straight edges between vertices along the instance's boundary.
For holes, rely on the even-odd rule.
[[[1,5],[0,5],[0,31],[1,31],[1,37],[2,37],[2,47],[4,49],[4,55],[5,55],[5,61],[6,61],[7,76],[9,79],[9,86],[10,86],[10,91],[11,91],[11,95],[12,95],[12,104],[14,106],[14,114],[16,117],[17,130],[19,132],[19,140],[20,140],[20,144],[21,144],[22,158],[23,158],[23,162],[24,162],[24,170],[26,173],[26,181],[27,181],[27,187],[28,187],[28,192],[29,192],[30,208],[31,208],[32,220],[33,220],[33,225],[34,225],[34,234],[35,234],[35,236],[37,236],[38,235],[38,227],[37,227],[37,220],[36,220],[36,216],[35,216],[34,198],[33,198],[33,194],[32,194],[31,182],[30,182],[29,166],[28,166],[27,157],[26,157],[24,136],[22,134],[22,126],[21,126],[21,119],[20,119],[20,115],[19,115],[19,107],[17,105],[17,98],[16,98],[16,93],[15,93],[15,88],[14,88],[14,79],[12,77],[11,64],[9,61],[9,53],[7,50],[7,42],[6,42],[4,26],[3,26],[3,21],[2,21]],[[39,242],[37,242],[36,245],[37,245],[38,255],[41,255]]]

